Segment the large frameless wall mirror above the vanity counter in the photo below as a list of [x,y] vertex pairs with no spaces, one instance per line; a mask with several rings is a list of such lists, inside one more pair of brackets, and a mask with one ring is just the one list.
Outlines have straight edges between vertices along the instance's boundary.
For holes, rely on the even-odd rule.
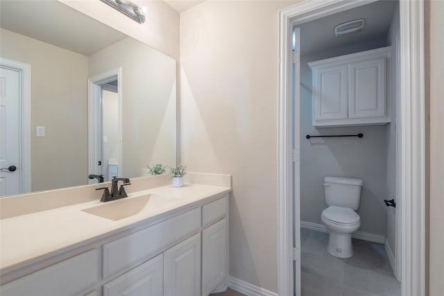
[[[17,193],[12,176],[27,162],[23,192],[176,164],[176,60],[56,0],[1,0],[0,12],[0,165],[17,168],[1,170],[1,195]],[[11,103],[26,71],[30,103]]]

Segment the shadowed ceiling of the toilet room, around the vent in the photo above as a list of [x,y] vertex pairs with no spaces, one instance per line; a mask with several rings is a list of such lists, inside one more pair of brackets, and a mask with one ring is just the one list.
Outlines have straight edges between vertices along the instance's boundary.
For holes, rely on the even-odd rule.
[[[398,1],[395,0],[377,1],[301,24],[298,26],[301,38],[300,51],[302,54],[314,53],[385,38],[397,4]],[[335,26],[355,19],[366,20],[363,31],[341,37],[334,36]]]

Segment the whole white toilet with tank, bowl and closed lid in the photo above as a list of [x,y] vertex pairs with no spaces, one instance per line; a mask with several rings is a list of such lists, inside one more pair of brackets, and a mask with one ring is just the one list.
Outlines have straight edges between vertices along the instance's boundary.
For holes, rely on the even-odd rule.
[[327,209],[321,220],[330,231],[327,250],[340,258],[353,256],[352,232],[361,226],[356,210],[361,198],[361,179],[325,177],[325,201]]

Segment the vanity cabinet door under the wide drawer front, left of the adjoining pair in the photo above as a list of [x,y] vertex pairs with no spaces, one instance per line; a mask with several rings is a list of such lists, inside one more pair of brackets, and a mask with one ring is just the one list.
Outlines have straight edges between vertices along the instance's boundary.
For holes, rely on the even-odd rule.
[[103,296],[162,296],[163,254],[103,286]]

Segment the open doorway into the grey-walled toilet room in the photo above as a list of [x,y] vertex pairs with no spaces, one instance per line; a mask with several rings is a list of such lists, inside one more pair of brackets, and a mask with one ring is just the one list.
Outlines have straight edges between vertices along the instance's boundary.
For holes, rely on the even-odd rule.
[[[300,214],[300,234],[295,229],[300,261],[295,262],[301,265],[297,270],[302,277],[302,296],[382,295],[388,290],[400,295],[400,282],[395,278],[400,254],[395,252],[395,208],[384,204],[391,198],[397,201],[399,192],[395,189],[395,111],[399,102],[394,63],[398,31],[398,1],[368,3],[298,24],[293,31],[293,55],[297,55],[293,64],[298,73],[294,76],[299,82],[293,87],[293,95],[298,96],[294,101],[299,102],[293,108],[299,112],[293,114],[293,134],[300,151],[300,180],[295,176],[298,186],[294,186],[300,201],[295,209]],[[345,137],[354,134],[363,137]],[[324,182],[330,176],[346,177],[341,182],[362,180],[355,196],[358,204],[346,204],[342,198],[328,202],[327,189],[335,186]],[[336,245],[332,254],[331,229],[321,216],[336,209],[329,206],[340,204],[352,208],[359,225],[350,232],[351,245]],[[336,214],[333,211],[341,223],[349,218]],[[348,249],[343,247],[351,247],[352,252],[346,254]],[[370,284],[373,280],[379,284]]]

